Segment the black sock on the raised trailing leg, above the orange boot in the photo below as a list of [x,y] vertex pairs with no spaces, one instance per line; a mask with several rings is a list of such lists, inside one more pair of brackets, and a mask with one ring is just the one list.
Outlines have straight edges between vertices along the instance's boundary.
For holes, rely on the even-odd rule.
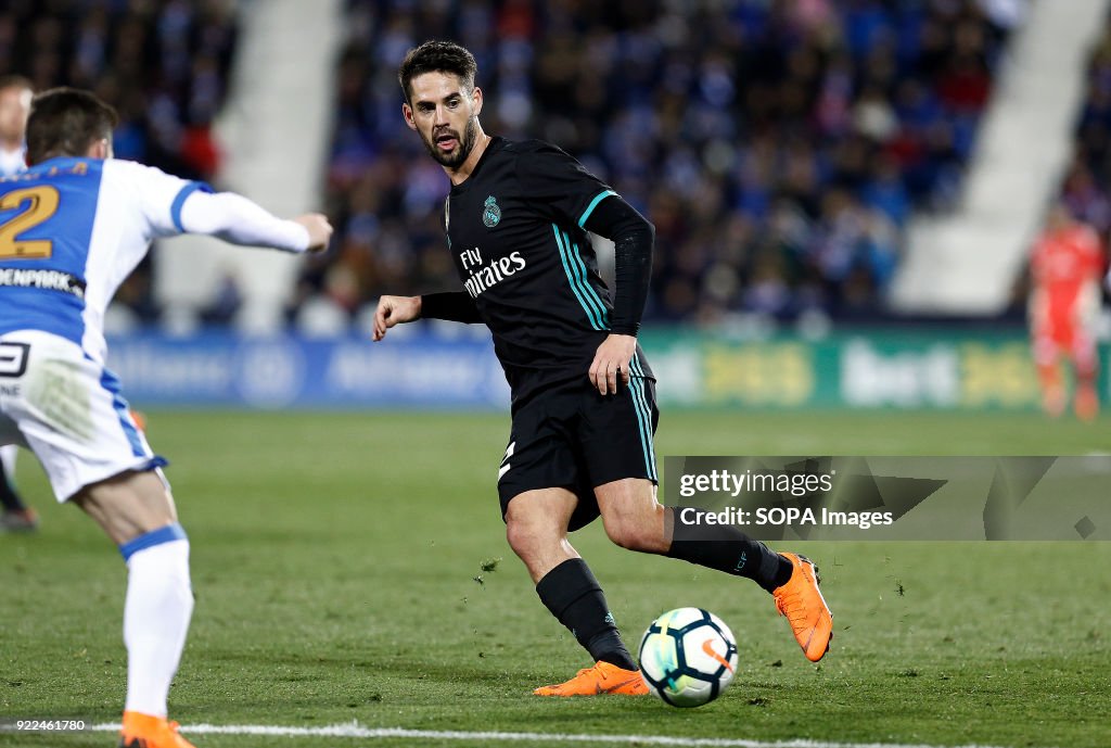
[[785,558],[729,525],[687,525],[669,508],[673,520],[671,548],[665,556],[748,577],[771,592],[787,584],[793,568]]

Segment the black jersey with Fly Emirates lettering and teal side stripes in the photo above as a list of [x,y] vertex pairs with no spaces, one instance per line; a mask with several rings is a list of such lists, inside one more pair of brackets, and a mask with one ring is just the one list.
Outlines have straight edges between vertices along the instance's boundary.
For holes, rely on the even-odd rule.
[[[463,288],[493,333],[514,406],[581,377],[612,299],[583,228],[614,191],[559,148],[493,138],[444,208]],[[639,350],[633,376],[652,377]]]

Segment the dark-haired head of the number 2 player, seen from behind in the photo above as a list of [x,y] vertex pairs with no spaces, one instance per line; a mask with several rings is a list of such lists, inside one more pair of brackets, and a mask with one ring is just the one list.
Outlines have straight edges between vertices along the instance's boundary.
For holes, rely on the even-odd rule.
[[89,146],[111,138],[120,118],[89,91],[52,88],[34,97],[27,120],[27,162],[58,156],[84,156]]

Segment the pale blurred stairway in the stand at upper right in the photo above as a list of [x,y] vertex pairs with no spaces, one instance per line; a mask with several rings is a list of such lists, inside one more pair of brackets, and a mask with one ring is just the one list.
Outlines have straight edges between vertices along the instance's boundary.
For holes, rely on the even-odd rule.
[[1109,8],[1108,0],[1021,8],[959,205],[914,216],[888,295],[892,309],[964,318],[1004,312],[1068,168],[1085,62]]

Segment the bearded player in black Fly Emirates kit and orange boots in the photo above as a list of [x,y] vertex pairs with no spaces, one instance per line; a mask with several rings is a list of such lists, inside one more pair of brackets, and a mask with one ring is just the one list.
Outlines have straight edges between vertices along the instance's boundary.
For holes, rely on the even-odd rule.
[[[829,648],[832,615],[805,557],[734,527],[688,527],[657,501],[654,377],[637,345],[654,229],[559,148],[488,136],[478,67],[462,47],[410,50],[402,113],[451,180],[443,222],[463,290],[384,296],[373,339],[420,318],[486,323],[512,390],[498,492],[509,545],[541,601],[594,660],[539,696],[647,694],[601,586],[568,532],[601,516],[630,550],[749,577],[774,596],[805,656]],[[587,232],[614,243],[615,293]]]

